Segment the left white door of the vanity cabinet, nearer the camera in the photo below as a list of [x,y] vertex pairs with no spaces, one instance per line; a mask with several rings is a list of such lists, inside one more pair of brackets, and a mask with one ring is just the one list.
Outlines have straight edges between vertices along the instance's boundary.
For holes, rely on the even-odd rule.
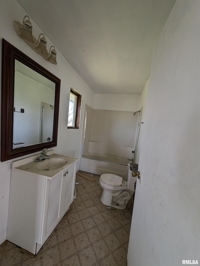
[[46,200],[44,206],[44,223],[42,242],[48,238],[61,218],[62,174],[47,181]]

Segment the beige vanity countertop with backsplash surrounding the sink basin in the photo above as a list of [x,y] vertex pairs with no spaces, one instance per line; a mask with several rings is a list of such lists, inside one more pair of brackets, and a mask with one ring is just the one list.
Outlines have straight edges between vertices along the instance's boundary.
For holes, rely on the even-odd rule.
[[[55,170],[48,170],[48,171],[47,170],[39,170],[37,168],[37,165],[39,163],[41,163],[42,161],[48,160],[48,159],[45,159],[45,160],[36,162],[35,159],[37,159],[40,156],[40,154],[39,154],[39,155],[31,156],[31,157],[28,157],[28,158],[25,158],[22,160],[18,160],[18,161],[16,161],[16,163],[13,162],[12,170],[27,172],[28,174],[31,173],[34,176],[41,176],[41,177],[47,178],[47,179],[53,179],[60,172],[62,172],[66,167],[70,166],[71,164],[73,164],[74,162],[79,160],[76,157],[64,156],[64,155],[55,154],[55,153],[52,154],[52,152],[47,152],[47,155],[50,155],[51,158],[64,158],[67,160],[67,163],[64,166],[61,166],[60,168],[55,169]],[[20,161],[22,161],[21,165],[20,165]]]

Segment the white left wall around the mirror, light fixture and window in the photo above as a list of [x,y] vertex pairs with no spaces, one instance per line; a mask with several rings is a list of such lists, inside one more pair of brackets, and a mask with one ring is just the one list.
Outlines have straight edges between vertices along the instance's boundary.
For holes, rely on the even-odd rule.
[[[16,0],[0,1],[0,38],[6,39],[9,43],[17,47],[23,53],[27,54],[30,58],[42,65],[48,71],[53,73],[61,79],[60,88],[60,107],[59,107],[59,120],[58,120],[58,145],[54,148],[55,152],[80,157],[81,141],[83,132],[83,116],[85,104],[93,107],[94,93],[89,86],[83,81],[63,55],[57,51],[57,65],[46,62],[40,55],[38,55],[31,47],[29,47],[22,39],[20,39],[12,27],[13,21],[22,23],[22,19],[27,12],[21,7]],[[38,37],[42,30],[30,17],[33,26],[33,36]],[[47,40],[47,50],[53,43],[45,36]],[[0,51],[2,50],[2,42],[0,41]],[[0,53],[0,71],[1,71],[1,58]],[[1,79],[1,75],[0,75]],[[0,80],[1,83],[1,80]],[[68,123],[68,106],[70,87],[77,90],[82,97],[83,110],[81,112],[80,129],[67,129]],[[38,153],[38,152],[37,152]],[[26,156],[25,156],[26,157]],[[19,159],[19,158],[17,158]],[[7,221],[8,221],[8,201],[10,189],[10,176],[11,176],[11,162],[0,162],[0,243],[6,239]]]

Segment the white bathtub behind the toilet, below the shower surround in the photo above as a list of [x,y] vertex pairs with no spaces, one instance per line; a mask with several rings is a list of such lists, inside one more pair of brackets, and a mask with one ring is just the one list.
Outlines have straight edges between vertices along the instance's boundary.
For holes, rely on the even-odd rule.
[[127,158],[87,152],[80,160],[80,170],[96,175],[113,173],[127,181],[128,177]]

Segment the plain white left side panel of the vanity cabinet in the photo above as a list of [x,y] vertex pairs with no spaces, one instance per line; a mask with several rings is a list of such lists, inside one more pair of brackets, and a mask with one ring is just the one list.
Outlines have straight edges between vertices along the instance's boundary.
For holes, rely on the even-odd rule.
[[46,186],[45,178],[12,169],[6,239],[33,254],[41,240]]

